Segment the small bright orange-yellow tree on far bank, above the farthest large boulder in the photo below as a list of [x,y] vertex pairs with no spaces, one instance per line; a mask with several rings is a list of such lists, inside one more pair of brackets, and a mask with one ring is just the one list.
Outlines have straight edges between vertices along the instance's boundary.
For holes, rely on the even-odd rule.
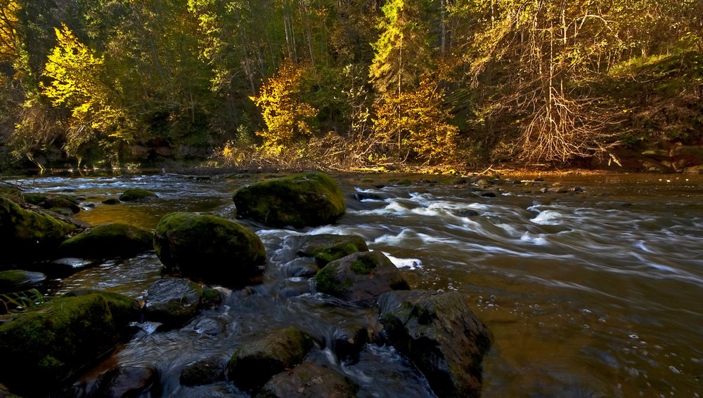
[[317,110],[299,98],[301,74],[299,67],[285,64],[276,77],[266,81],[259,96],[251,98],[266,124],[266,130],[257,135],[263,138],[264,149],[273,154],[280,154],[299,138],[313,135],[310,121]]

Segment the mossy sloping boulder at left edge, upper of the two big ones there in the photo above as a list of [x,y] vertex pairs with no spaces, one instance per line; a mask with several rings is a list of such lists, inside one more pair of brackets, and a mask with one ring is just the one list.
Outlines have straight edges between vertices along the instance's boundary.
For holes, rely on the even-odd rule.
[[51,258],[67,234],[76,229],[76,225],[21,208],[0,197],[0,242],[6,248],[0,265]]

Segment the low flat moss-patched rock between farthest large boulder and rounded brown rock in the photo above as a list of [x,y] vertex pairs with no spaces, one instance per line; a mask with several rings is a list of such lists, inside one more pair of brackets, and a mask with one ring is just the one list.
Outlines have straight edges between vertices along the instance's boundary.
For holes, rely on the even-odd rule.
[[357,235],[318,234],[302,237],[298,256],[312,257],[320,267],[330,261],[349,256],[359,251],[368,251],[366,241]]

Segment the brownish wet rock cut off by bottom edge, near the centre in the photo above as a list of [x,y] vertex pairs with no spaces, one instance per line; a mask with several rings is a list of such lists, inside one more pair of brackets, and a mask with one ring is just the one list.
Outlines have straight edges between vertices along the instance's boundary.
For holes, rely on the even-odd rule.
[[359,386],[330,367],[304,362],[273,376],[257,398],[353,398]]

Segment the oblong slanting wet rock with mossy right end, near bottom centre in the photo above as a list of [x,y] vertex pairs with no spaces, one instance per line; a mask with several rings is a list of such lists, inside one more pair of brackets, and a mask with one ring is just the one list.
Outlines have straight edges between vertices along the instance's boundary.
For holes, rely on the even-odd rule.
[[303,331],[276,329],[240,345],[229,361],[228,378],[243,390],[259,390],[271,376],[301,363],[312,346]]

